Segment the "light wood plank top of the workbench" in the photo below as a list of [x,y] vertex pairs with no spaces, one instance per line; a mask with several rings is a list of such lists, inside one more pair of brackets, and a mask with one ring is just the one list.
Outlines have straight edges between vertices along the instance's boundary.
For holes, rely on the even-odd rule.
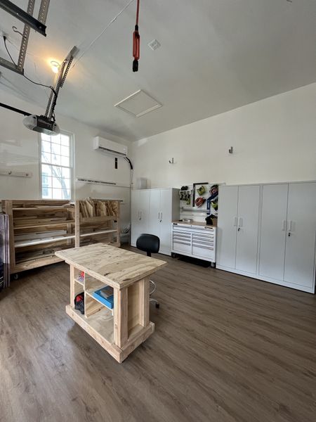
[[113,288],[124,288],[166,265],[166,262],[115,246],[95,243],[55,252],[86,274]]

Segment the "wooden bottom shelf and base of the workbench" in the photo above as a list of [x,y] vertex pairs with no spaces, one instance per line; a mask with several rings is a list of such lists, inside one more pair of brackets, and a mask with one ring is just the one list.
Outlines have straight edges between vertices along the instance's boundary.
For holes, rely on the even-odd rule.
[[127,343],[121,348],[114,343],[113,316],[110,309],[103,307],[88,318],[71,305],[66,306],[66,312],[74,322],[91,335],[119,363],[123,362],[136,347],[147,340],[154,332],[153,322],[150,322],[147,327],[137,324],[131,328]]

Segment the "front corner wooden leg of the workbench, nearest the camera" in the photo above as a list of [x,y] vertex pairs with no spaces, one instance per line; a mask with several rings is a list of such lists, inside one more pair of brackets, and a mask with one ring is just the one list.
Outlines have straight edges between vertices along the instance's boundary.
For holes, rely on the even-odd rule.
[[114,343],[123,347],[128,338],[128,288],[114,288]]

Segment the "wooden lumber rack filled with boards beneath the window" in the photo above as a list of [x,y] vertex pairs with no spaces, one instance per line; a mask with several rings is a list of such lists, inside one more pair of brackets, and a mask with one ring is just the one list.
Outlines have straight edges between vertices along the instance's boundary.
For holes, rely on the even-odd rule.
[[10,273],[60,262],[58,250],[120,245],[119,200],[2,200],[9,219]]

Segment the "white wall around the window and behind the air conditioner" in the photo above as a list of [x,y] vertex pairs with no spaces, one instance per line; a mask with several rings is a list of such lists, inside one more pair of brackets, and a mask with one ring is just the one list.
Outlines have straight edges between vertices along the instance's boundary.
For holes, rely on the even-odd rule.
[[[26,110],[29,113],[44,113],[44,109],[30,106],[11,94],[0,91],[1,102]],[[39,191],[39,136],[37,132],[26,129],[22,124],[23,116],[13,111],[0,108],[0,169],[29,171],[30,179],[6,177],[0,175],[0,199],[38,199]],[[100,133],[98,129],[88,127],[76,120],[58,116],[60,129],[74,134],[74,179],[84,177],[101,181],[113,181],[129,186],[129,164],[119,158],[118,169],[114,169],[114,157],[93,151],[93,137],[104,136],[112,141],[124,143],[130,148],[129,141],[123,141],[110,134]],[[74,198],[87,196],[93,198],[122,199],[122,226],[129,223],[130,192],[129,188],[110,187],[97,184],[75,183]]]

